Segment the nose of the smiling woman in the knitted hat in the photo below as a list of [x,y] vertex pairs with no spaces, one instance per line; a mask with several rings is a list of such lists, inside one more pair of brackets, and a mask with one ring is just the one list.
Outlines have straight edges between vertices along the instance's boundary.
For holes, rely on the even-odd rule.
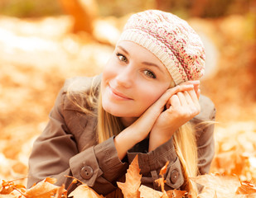
[[118,71],[116,76],[116,82],[119,86],[123,87],[132,87],[133,82],[135,81],[135,71],[131,65],[127,65],[125,68]]

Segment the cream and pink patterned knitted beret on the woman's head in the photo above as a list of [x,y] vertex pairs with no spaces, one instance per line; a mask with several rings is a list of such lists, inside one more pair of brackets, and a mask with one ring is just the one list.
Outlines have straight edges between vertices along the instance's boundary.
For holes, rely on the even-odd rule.
[[141,45],[162,61],[175,84],[197,80],[205,70],[205,49],[188,23],[178,16],[158,10],[133,14],[119,41]]

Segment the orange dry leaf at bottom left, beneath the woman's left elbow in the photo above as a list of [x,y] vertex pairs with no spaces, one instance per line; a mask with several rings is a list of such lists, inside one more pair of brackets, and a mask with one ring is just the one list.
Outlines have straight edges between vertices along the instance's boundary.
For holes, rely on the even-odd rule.
[[55,178],[46,177],[43,181],[40,181],[36,184],[36,186],[32,186],[27,190],[25,196],[27,198],[49,198],[53,196],[59,186],[53,185],[56,183]]

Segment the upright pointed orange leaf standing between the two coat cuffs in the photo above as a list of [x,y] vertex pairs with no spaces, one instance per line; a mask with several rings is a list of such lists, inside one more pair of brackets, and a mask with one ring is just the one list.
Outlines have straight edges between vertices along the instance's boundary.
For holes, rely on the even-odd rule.
[[138,155],[133,159],[130,164],[127,173],[125,174],[125,183],[117,182],[118,187],[122,190],[124,198],[136,198],[139,197],[138,188],[141,185],[142,175],[139,174],[140,169],[138,167]]

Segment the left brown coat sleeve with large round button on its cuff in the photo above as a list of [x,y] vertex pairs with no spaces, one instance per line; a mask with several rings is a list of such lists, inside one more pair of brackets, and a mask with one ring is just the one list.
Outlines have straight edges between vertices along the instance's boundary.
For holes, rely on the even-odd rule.
[[[114,191],[114,181],[125,173],[127,164],[119,160],[114,138],[79,152],[75,135],[65,123],[64,101],[65,92],[62,90],[51,110],[46,129],[33,145],[27,187],[46,177],[55,177],[56,185],[64,183],[67,188],[73,179],[65,176],[73,176],[99,194],[107,195]],[[70,191],[75,187],[72,184]]]

